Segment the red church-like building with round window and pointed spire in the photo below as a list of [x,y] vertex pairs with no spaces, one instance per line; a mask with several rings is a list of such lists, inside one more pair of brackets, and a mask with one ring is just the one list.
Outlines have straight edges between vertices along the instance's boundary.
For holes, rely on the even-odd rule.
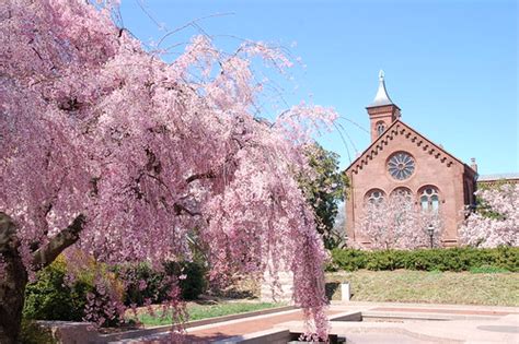
[[441,242],[457,246],[462,210],[475,202],[475,162],[472,167],[464,164],[403,122],[400,107],[388,95],[382,71],[377,95],[366,109],[371,144],[345,170],[350,181],[345,203],[348,238],[369,246],[355,229],[365,202],[404,191],[418,209],[441,209]]

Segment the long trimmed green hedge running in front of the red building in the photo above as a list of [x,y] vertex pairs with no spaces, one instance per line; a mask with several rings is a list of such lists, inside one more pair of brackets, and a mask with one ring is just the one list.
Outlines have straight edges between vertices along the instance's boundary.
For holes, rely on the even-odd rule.
[[422,270],[422,271],[470,271],[481,268],[519,271],[519,247],[493,249],[448,248],[418,250],[334,249],[326,271]]

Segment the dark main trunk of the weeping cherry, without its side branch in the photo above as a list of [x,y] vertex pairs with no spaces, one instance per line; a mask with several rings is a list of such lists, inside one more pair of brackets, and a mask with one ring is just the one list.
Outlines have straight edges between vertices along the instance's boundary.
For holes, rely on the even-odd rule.
[[11,218],[0,212],[0,343],[18,343],[27,273],[18,251],[20,241]]

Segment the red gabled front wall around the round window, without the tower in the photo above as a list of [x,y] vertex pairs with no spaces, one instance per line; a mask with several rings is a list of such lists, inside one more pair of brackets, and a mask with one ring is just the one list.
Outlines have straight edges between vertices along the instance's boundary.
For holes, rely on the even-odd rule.
[[[462,210],[464,206],[464,165],[452,159],[445,154],[439,154],[430,145],[422,140],[411,139],[394,130],[392,139],[387,140],[387,144],[378,153],[372,154],[372,158],[367,158],[367,165],[359,167],[358,174],[349,170],[348,177],[353,186],[348,192],[346,201],[346,229],[349,238],[356,241],[362,240],[354,232],[355,221],[362,211],[365,194],[372,188],[382,189],[385,194],[390,194],[397,187],[406,187],[412,190],[418,201],[418,190],[432,185],[439,190],[441,213],[443,215],[443,245],[458,245],[459,224],[463,221]],[[385,135],[384,135],[385,137]],[[430,152],[432,150],[432,152]],[[397,151],[410,153],[415,159],[415,171],[406,180],[396,180],[391,177],[387,169],[387,161],[391,154]]]

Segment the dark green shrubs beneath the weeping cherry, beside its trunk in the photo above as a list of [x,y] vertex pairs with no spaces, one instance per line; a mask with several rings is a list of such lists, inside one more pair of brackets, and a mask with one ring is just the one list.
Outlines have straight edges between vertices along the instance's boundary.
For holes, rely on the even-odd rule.
[[[88,258],[84,257],[84,259]],[[206,289],[206,270],[200,263],[169,262],[164,264],[162,271],[152,270],[147,263],[109,268],[106,264],[95,263],[93,260],[85,266],[88,268],[74,271],[73,283],[66,283],[67,263],[62,257],[58,257],[49,266],[39,271],[36,281],[27,284],[25,289],[24,319],[82,321],[86,316],[85,306],[89,293],[96,295],[96,307],[111,301],[106,295],[103,297],[95,289],[93,281],[99,275],[115,287],[117,297],[120,297],[127,306],[130,304],[142,306],[147,298],[154,304],[165,300],[170,285],[163,282],[168,275],[186,275],[186,278],[180,280],[184,299],[195,299]],[[119,273],[124,269],[130,270],[134,276],[131,281],[145,281],[146,288],[140,289],[137,283],[130,282],[125,292],[120,280],[124,274]],[[99,303],[102,304],[97,305]],[[119,322],[117,316],[107,317],[101,308],[99,311],[94,310],[89,313],[91,321],[95,321],[97,316],[104,318],[103,327],[116,325]]]

